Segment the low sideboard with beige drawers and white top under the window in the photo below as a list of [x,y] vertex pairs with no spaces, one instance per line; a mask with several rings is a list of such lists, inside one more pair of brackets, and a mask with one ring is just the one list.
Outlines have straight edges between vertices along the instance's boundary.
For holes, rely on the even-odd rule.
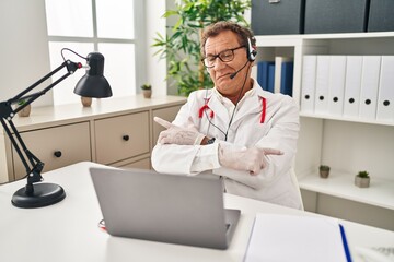
[[[91,107],[70,104],[33,107],[30,117],[13,122],[27,148],[44,164],[44,172],[77,162],[116,167],[151,168],[158,138],[153,116],[172,121],[185,97],[142,95],[94,99]],[[15,150],[0,130],[0,182],[26,175]]]

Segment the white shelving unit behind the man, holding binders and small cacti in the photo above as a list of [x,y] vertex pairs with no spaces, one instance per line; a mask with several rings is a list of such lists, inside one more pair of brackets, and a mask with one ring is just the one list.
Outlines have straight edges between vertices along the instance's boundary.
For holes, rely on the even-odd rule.
[[[394,32],[257,36],[257,60],[294,59],[293,98],[300,105],[304,55],[393,56]],[[394,122],[300,111],[296,172],[309,211],[394,230]],[[318,177],[321,164],[332,167]],[[371,187],[354,184],[368,170]]]

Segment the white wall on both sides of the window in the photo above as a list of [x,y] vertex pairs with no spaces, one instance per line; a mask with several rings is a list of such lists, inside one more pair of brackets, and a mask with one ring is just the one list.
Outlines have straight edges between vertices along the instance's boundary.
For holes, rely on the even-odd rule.
[[[164,0],[146,1],[146,70],[153,95],[167,93],[165,60],[153,57],[157,49],[150,47],[157,32],[165,35],[164,12]],[[0,102],[3,102],[50,72],[45,0],[1,0],[0,34]],[[43,105],[53,105],[51,92],[33,103]]]

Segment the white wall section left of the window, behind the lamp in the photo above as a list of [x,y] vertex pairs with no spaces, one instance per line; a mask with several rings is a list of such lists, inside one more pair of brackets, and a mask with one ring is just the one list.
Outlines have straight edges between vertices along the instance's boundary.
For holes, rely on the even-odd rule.
[[[3,102],[50,72],[45,1],[1,0],[0,34],[0,100]],[[53,104],[51,97],[48,93],[33,106]]]

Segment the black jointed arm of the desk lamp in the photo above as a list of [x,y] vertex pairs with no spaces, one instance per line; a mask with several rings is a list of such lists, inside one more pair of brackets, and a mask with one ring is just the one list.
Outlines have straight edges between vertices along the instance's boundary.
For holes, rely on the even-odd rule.
[[[58,80],[56,80],[54,83],[45,87],[44,90],[26,95],[32,90],[34,90],[37,85],[42,84],[45,80],[49,79],[51,75],[60,71],[62,68],[67,67],[67,73],[60,76]],[[15,114],[20,110],[22,110],[27,105],[32,104],[34,100],[36,100],[42,95],[46,94],[49,90],[51,90],[55,85],[67,79],[69,75],[71,75],[76,70],[82,68],[81,63],[71,62],[70,60],[65,61],[61,66],[56,68],[54,71],[49,72],[47,75],[28,86],[26,90],[22,91],[20,94],[18,94],[15,97],[0,103],[0,121],[2,127],[5,130],[7,135],[9,136],[12,145],[14,146],[19,157],[22,160],[23,166],[26,169],[27,174],[27,184],[26,184],[26,193],[33,192],[33,183],[39,182],[43,180],[43,177],[40,176],[40,172],[44,168],[44,163],[38,159],[32,152],[28,151],[27,146],[22,140],[22,136],[18,132],[16,127],[12,122],[12,118],[15,116]],[[21,100],[26,99],[26,103],[23,105],[19,105],[16,108],[12,108],[12,104]],[[12,132],[14,133],[15,138],[12,135]]]

